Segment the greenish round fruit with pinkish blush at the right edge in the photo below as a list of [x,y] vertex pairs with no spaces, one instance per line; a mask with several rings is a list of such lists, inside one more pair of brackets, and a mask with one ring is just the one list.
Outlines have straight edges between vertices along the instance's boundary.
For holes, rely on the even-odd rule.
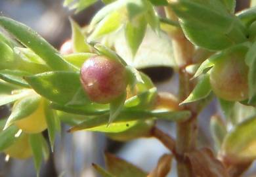
[[210,73],[213,92],[224,100],[242,101],[248,98],[248,66],[244,52],[232,52],[216,62]]

